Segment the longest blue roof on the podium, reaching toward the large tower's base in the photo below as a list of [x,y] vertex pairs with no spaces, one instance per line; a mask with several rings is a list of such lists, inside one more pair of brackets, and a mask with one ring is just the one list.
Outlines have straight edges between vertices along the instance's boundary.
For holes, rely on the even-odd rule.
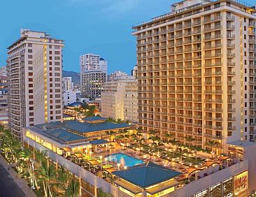
[[129,127],[126,123],[112,123],[112,122],[99,122],[99,123],[89,123],[89,122],[78,122],[76,120],[64,121],[64,127],[71,129],[73,131],[78,131],[80,133],[88,133],[93,131],[104,131],[111,129],[124,129]]

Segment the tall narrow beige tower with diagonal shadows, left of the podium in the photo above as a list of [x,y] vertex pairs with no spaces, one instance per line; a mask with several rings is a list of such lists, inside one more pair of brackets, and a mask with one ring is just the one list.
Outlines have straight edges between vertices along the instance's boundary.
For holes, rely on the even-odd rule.
[[8,47],[9,126],[18,138],[22,127],[62,120],[62,40],[22,29]]

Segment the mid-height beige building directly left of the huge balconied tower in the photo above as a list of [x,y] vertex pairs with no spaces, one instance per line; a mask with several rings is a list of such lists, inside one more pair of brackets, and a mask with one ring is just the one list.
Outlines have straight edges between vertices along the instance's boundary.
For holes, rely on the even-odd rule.
[[106,82],[101,94],[101,115],[137,122],[137,86],[133,76],[115,77]]

